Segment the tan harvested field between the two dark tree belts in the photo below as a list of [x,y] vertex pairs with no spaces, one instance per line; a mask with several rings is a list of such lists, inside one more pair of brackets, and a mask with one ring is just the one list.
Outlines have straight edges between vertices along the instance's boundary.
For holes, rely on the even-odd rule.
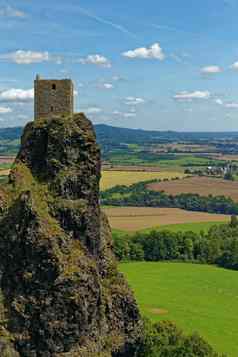
[[112,228],[131,232],[170,224],[230,220],[230,216],[223,214],[185,211],[179,208],[113,207],[103,210]]

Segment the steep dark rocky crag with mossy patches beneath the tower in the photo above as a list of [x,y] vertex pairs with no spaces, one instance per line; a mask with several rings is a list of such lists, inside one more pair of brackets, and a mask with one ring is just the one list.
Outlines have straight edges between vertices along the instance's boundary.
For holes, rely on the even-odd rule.
[[111,252],[99,180],[83,114],[26,126],[0,194],[1,356],[133,356],[140,317]]

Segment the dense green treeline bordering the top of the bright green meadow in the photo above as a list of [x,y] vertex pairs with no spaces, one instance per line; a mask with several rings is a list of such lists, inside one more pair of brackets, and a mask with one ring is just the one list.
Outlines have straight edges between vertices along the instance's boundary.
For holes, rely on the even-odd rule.
[[114,234],[118,260],[189,261],[238,270],[238,224],[213,226],[208,233],[151,231]]

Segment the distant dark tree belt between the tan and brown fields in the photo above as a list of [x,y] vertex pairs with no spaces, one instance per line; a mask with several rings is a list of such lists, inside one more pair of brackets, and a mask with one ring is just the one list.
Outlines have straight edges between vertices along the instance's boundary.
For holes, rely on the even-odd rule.
[[174,207],[189,211],[221,214],[238,214],[238,203],[225,196],[200,196],[193,193],[169,195],[152,191],[148,184],[158,180],[144,181],[131,186],[115,186],[101,193],[101,203],[111,206]]

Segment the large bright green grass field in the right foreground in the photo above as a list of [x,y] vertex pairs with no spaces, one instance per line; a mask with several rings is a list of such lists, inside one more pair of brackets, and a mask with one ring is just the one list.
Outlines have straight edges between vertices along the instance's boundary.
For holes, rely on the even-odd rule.
[[238,272],[186,263],[123,263],[142,314],[197,331],[219,352],[238,356]]

